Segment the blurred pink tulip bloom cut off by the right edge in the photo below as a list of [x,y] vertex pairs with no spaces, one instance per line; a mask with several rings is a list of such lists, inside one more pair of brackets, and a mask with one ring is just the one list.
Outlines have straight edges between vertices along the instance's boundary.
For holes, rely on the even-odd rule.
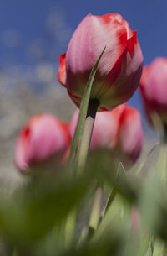
[[139,87],[150,123],[158,114],[167,125],[167,58],[156,58],[144,67]]

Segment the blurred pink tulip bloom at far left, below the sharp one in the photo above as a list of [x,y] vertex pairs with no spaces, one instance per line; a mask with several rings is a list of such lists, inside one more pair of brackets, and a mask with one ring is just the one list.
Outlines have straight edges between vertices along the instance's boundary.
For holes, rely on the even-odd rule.
[[[49,113],[30,118],[18,136],[14,159],[25,172],[63,159],[69,146],[68,125]],[[42,166],[42,165],[41,165]]]

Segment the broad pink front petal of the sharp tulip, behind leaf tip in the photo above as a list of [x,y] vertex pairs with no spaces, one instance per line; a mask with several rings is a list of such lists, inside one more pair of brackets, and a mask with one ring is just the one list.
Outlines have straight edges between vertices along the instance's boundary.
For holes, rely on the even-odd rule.
[[[118,17],[119,18],[118,18]],[[106,23],[105,19],[109,18]],[[108,16],[88,15],[75,30],[67,51],[67,88],[73,95],[82,97],[90,71],[106,45],[97,75],[94,79],[93,95],[101,88],[101,81],[114,66],[118,55],[126,48],[127,29],[123,18],[118,14]]]

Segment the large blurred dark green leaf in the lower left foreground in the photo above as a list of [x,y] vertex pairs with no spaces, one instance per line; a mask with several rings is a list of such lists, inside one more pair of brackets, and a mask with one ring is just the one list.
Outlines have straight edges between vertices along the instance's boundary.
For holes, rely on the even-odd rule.
[[28,246],[59,225],[89,191],[90,179],[45,178],[0,197],[0,232],[9,243]]

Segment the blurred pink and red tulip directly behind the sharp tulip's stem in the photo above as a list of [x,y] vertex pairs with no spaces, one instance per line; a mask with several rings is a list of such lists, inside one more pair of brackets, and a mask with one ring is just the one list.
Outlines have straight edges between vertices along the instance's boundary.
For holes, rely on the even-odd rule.
[[[78,120],[78,110],[74,112],[69,133],[73,133]],[[107,148],[119,154],[119,158],[133,164],[143,146],[143,129],[139,112],[134,107],[122,104],[109,112],[96,114],[91,149]]]

